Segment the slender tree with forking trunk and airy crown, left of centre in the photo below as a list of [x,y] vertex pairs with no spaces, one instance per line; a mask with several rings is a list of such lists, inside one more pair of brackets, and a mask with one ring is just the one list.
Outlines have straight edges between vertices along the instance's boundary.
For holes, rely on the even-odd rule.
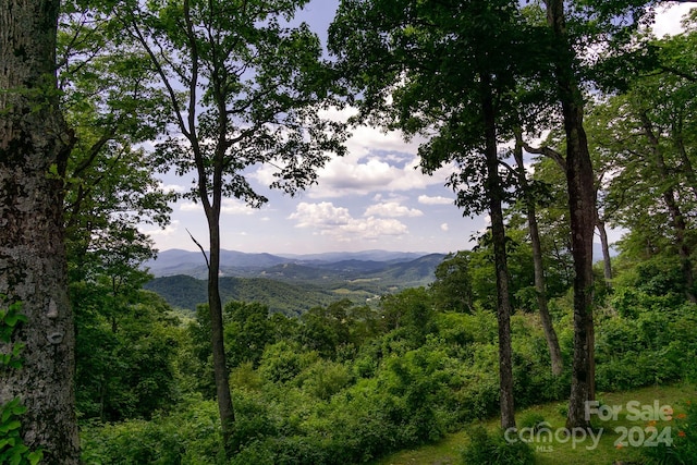
[[186,197],[206,215],[213,371],[228,455],[234,411],[219,292],[222,199],[264,204],[245,171],[258,164],[278,168],[272,186],[292,194],[315,181],[328,152],[342,150],[341,124],[321,118],[330,89],[319,40],[305,24],[282,25],[305,3],[122,1],[114,13],[168,95],[170,132],[157,149],[162,170],[194,174]]

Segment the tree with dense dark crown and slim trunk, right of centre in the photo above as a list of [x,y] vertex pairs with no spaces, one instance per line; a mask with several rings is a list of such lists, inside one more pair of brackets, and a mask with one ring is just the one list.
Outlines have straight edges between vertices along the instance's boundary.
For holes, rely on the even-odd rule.
[[511,131],[508,98],[526,52],[518,5],[496,2],[346,0],[330,50],[360,95],[362,117],[430,139],[419,147],[432,173],[453,163],[449,184],[465,215],[487,211],[497,282],[501,425],[515,425],[511,369],[511,284],[502,206],[509,199],[498,143]]

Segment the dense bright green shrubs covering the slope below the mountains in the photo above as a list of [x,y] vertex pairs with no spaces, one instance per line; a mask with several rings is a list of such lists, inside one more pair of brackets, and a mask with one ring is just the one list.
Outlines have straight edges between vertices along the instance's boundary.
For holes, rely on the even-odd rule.
[[[258,365],[254,357],[247,357],[231,371],[235,405],[232,463],[366,463],[391,451],[437,441],[447,431],[497,414],[496,315],[482,309],[473,314],[424,313],[429,308],[425,304],[431,301],[423,289],[386,301],[388,305],[377,310],[350,303],[316,308],[308,319],[269,316],[262,306],[253,304],[229,306],[225,319],[231,328],[250,323],[252,332],[267,338],[261,329],[268,323],[272,333]],[[692,306],[661,313],[651,302],[646,301],[649,308],[639,308],[634,318],[624,319],[610,310],[599,314],[600,390],[609,389],[610,382],[633,387],[697,378],[690,363],[692,354],[697,356],[697,320]],[[555,305],[562,347],[568,355],[572,311],[564,298]],[[203,316],[205,310],[201,307]],[[388,318],[382,318],[383,311]],[[310,321],[313,331],[304,330]],[[189,325],[185,334],[198,342],[182,347],[200,351],[203,358],[196,355],[187,363],[197,367],[194,378],[211,378],[212,374],[203,369],[208,363],[208,352],[201,345],[207,343],[205,318]],[[565,399],[570,374],[551,376],[536,316],[515,315],[512,334],[517,405]],[[317,347],[323,347],[323,353]],[[250,353],[256,354],[256,347]],[[616,358],[609,358],[609,354]],[[637,365],[640,369],[631,371]],[[623,371],[617,372],[617,367]],[[196,383],[191,386],[199,389]],[[156,460],[159,448],[174,444],[174,437],[180,445],[167,445],[169,449],[161,452],[171,463],[216,463],[220,436],[213,392],[200,391],[207,400],[185,396],[179,406],[155,414],[150,421],[85,425],[83,436],[91,463],[119,463],[121,450],[126,457],[148,463]],[[560,405],[566,408],[566,404]],[[212,426],[196,426],[197,435],[187,429],[204,419]],[[530,415],[522,418],[521,425],[534,427],[542,420]],[[135,441],[136,433],[145,438],[133,444],[123,442]],[[484,463],[528,463],[529,450],[522,444],[506,444],[496,436],[478,443],[472,453],[493,461]],[[200,462],[187,455],[189,450],[199,451]],[[101,462],[97,462],[99,457]]]

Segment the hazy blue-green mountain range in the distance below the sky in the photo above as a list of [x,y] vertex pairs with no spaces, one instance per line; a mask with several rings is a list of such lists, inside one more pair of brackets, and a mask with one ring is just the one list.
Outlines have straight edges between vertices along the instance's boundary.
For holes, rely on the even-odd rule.
[[[340,298],[366,303],[407,287],[428,285],[444,254],[365,250],[313,255],[221,250],[220,293],[224,302],[259,302],[271,311],[301,314]],[[207,301],[201,253],[164,250],[146,264],[146,284],[186,311]]]

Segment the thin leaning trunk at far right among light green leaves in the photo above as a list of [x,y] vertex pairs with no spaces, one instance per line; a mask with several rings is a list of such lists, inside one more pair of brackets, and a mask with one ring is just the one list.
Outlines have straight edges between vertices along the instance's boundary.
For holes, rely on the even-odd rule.
[[[658,140],[658,136],[653,131],[653,124],[649,120],[646,112],[639,114],[641,124],[644,126],[644,133],[649,139],[651,146],[651,152],[653,155],[653,166],[658,171],[661,180],[670,180],[671,174],[668,172],[665,166],[665,159]],[[685,297],[692,303],[697,303],[697,296],[695,295],[695,276],[693,273],[693,261],[690,259],[692,250],[687,241],[685,241],[685,234],[687,233],[687,224],[685,218],[675,200],[675,189],[671,185],[663,191],[663,201],[668,207],[669,215],[671,217],[671,223],[675,231],[675,242],[677,245],[677,254],[681,260],[681,267],[683,269],[683,277],[685,279]]]

